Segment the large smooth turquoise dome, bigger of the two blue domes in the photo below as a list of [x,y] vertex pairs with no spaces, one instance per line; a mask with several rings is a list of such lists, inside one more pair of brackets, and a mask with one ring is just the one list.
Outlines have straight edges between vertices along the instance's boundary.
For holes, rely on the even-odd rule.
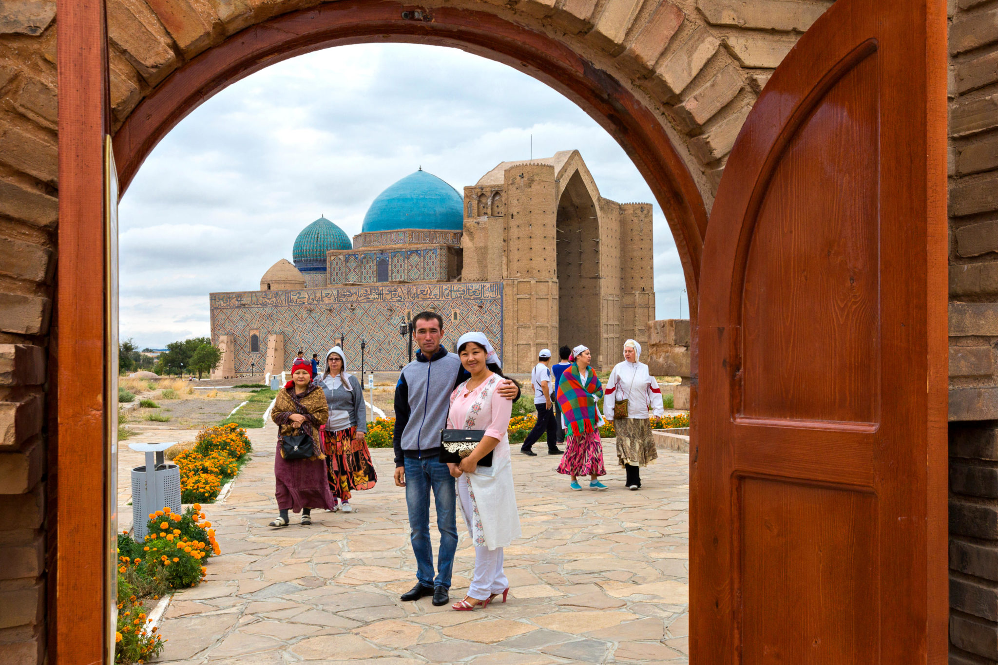
[[367,208],[361,230],[364,233],[399,228],[459,231],[464,227],[462,201],[454,187],[420,169],[377,195]]

